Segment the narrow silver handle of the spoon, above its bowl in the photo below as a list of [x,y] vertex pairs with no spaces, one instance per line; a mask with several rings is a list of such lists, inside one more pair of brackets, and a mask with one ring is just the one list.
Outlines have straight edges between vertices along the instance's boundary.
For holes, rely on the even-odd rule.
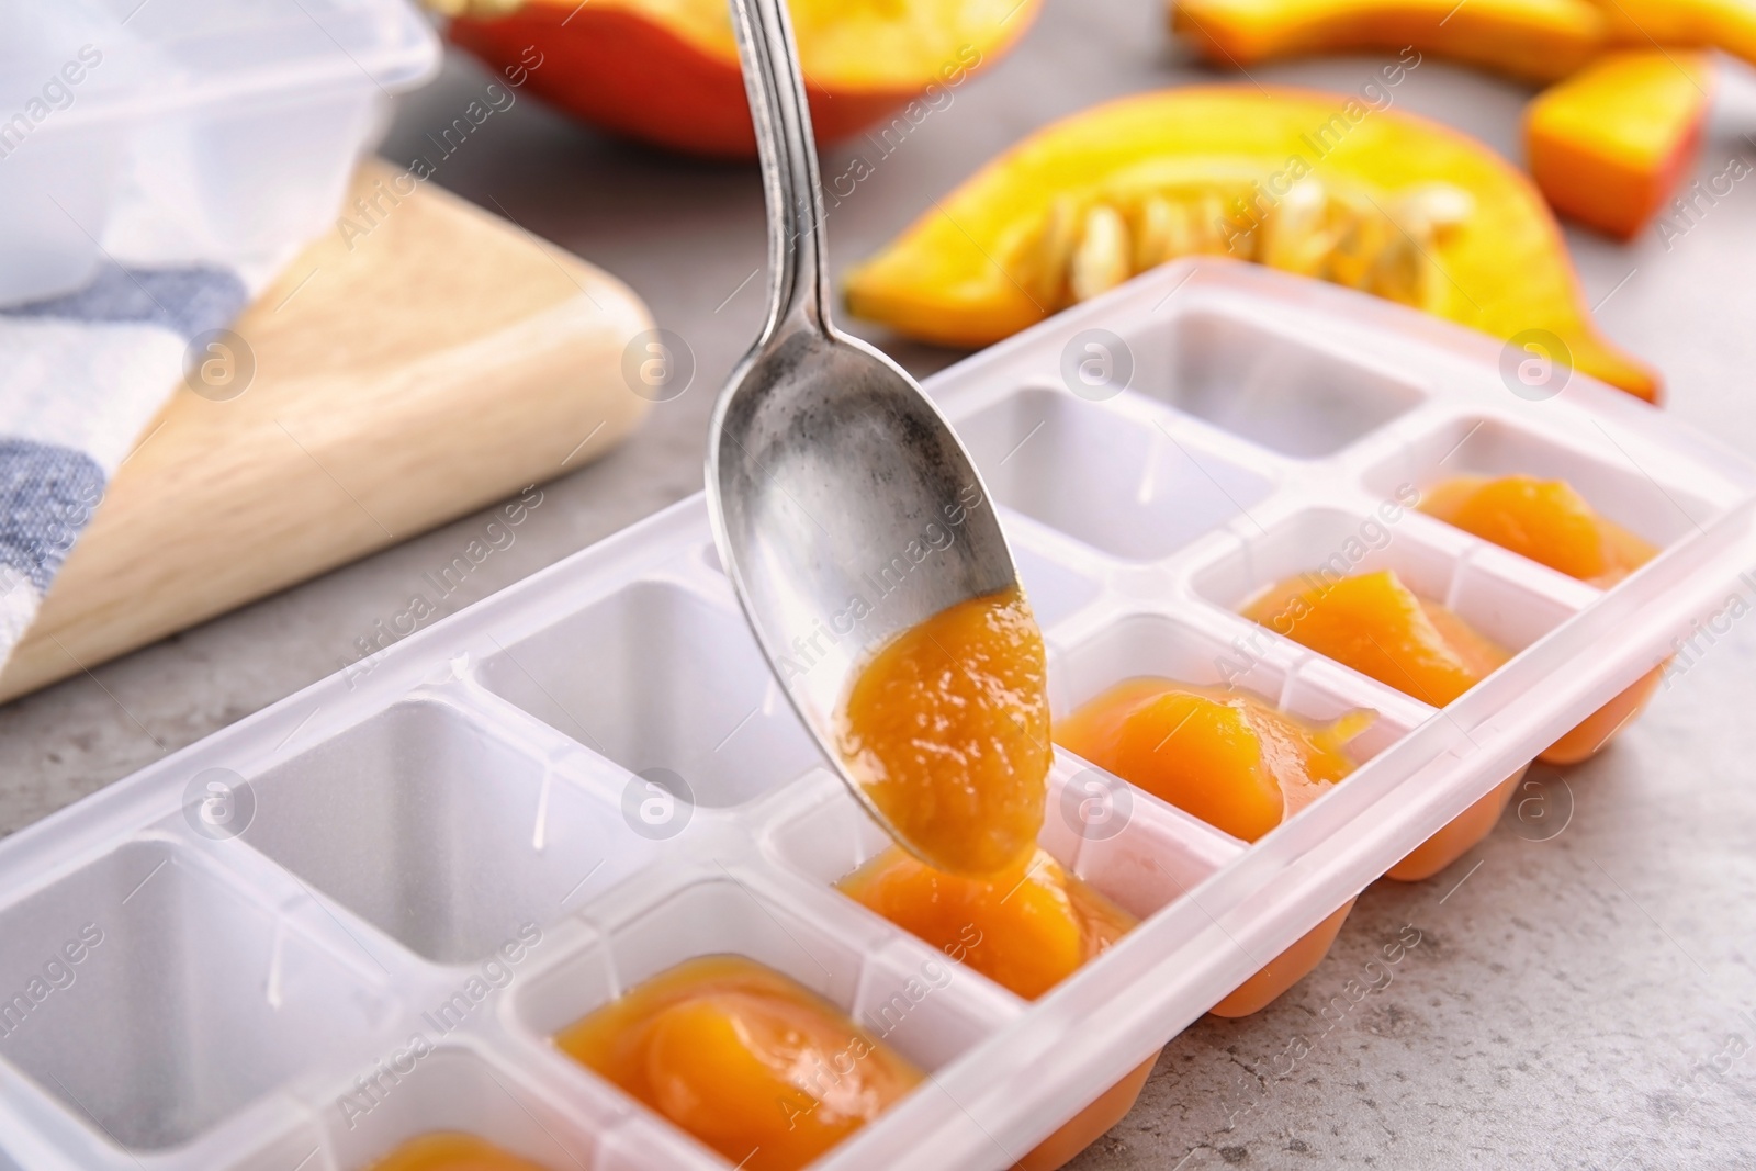
[[769,314],[755,348],[780,334],[829,334],[824,197],[799,47],[787,0],[730,0],[769,221]]

